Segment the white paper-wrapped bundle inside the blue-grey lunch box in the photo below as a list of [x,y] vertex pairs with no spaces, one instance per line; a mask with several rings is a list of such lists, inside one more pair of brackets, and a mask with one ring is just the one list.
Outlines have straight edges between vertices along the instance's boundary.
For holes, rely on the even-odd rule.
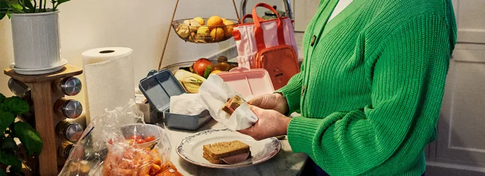
[[181,115],[199,115],[205,111],[205,106],[197,101],[199,94],[181,94],[170,96],[170,113]]

